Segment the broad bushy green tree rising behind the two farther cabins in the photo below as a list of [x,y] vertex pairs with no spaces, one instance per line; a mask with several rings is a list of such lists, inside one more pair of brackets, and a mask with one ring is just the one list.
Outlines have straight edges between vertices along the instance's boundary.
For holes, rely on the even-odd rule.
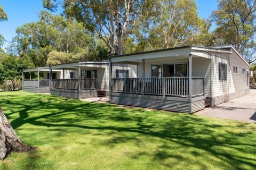
[[38,22],[24,24],[16,30],[13,43],[22,58],[33,61],[35,66],[45,66],[52,51],[67,53],[72,61],[94,56],[98,39],[82,23],[47,11],[41,11],[39,18]]

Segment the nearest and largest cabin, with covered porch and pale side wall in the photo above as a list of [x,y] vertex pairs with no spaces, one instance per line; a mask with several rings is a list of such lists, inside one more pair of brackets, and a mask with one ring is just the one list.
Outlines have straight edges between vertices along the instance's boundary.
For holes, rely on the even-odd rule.
[[194,113],[249,94],[250,65],[231,45],[182,46],[110,58],[137,66],[136,78],[110,79],[110,103]]

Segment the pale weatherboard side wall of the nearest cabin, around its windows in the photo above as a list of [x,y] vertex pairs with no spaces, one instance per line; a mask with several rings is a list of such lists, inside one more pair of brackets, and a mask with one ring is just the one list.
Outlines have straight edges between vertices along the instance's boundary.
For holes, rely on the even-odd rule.
[[[241,57],[232,49],[232,54],[213,55],[213,95],[207,96],[211,106],[224,103],[230,99],[237,98],[249,94],[249,86],[247,86],[247,75],[242,74],[242,69],[250,70],[249,66]],[[227,80],[219,80],[219,63],[227,64]],[[233,73],[233,66],[238,67],[238,74]]]

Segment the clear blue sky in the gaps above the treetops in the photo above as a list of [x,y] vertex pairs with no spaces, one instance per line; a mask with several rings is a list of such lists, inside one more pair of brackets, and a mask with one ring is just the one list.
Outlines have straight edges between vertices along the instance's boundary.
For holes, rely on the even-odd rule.
[[[211,12],[217,9],[217,1],[195,0],[198,14],[201,18],[209,18]],[[38,21],[38,13],[43,10],[43,0],[0,0],[0,4],[7,13],[8,21],[0,22],[0,34],[7,41],[15,36],[15,30],[23,24]],[[8,42],[4,44],[4,48]]]

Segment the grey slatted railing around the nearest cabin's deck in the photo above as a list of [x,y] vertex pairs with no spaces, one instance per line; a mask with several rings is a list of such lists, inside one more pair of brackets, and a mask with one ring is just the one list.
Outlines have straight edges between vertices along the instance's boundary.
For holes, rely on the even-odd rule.
[[[189,95],[188,77],[170,78],[113,78],[111,91],[113,93],[146,94],[161,96]],[[204,94],[204,78],[191,78],[191,96]]]

